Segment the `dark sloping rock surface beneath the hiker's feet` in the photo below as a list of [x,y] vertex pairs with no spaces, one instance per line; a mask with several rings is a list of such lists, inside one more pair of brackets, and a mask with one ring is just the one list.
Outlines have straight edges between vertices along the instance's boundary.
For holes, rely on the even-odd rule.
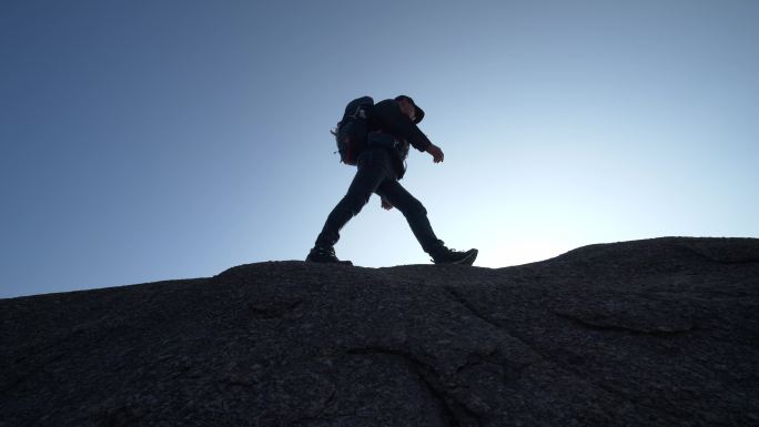
[[0,301],[0,426],[759,425],[759,240]]

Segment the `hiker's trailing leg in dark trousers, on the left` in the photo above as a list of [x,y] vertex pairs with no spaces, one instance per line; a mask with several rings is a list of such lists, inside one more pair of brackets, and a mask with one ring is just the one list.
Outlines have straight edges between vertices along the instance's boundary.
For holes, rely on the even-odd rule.
[[316,237],[316,246],[332,247],[340,240],[340,231],[368,202],[372,193],[392,171],[388,155],[384,150],[367,149],[358,159],[356,175],[347,193],[332,210],[322,232]]

